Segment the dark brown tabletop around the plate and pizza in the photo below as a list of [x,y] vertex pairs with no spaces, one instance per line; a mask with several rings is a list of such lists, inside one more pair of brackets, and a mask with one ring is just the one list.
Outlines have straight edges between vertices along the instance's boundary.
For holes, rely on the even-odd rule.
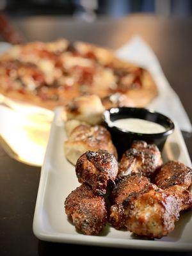
[[[112,49],[117,49],[134,35],[142,36],[156,53],[165,76],[178,93],[192,120],[192,19],[132,15],[121,20],[99,19],[94,23],[86,23],[63,17],[28,17],[13,19],[13,24],[20,29],[27,41],[50,41],[65,37]],[[185,136],[185,141],[192,156],[192,140]],[[118,248],[56,244],[38,240],[33,235],[32,225],[40,168],[15,161],[1,147],[0,165],[0,255],[58,255],[65,254],[68,250],[70,253],[78,250],[78,254],[135,253]],[[172,252],[155,253],[172,255]],[[192,253],[188,252],[187,255]]]

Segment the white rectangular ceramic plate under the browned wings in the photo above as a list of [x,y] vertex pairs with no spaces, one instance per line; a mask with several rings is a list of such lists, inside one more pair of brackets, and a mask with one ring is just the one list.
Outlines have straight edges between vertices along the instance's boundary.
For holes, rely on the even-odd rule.
[[[45,241],[115,246],[121,248],[141,248],[151,250],[192,250],[192,212],[184,212],[175,225],[175,230],[162,239],[138,239],[131,232],[106,227],[100,236],[84,236],[76,231],[67,220],[64,202],[74,190],[77,182],[75,168],[68,163],[63,153],[63,141],[66,139],[61,121],[61,109],[56,109],[40,185],[36,200],[33,232]],[[191,166],[188,150],[178,129],[168,138],[164,147],[163,159],[179,160]]]

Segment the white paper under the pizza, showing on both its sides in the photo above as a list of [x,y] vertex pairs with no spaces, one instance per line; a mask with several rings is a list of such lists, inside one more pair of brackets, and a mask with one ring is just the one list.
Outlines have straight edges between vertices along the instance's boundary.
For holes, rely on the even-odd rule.
[[[0,53],[8,47],[10,47],[9,44],[0,43]],[[186,111],[164,77],[152,49],[139,36],[136,36],[118,49],[116,54],[124,60],[147,68],[154,77],[159,95],[148,105],[148,108],[164,113],[178,123],[180,129],[191,132],[192,127]],[[29,104],[18,104],[3,95],[0,96],[0,102],[10,106],[10,108],[0,106],[0,134],[3,145],[6,145],[8,153],[15,159],[41,166],[44,161],[52,111]]]

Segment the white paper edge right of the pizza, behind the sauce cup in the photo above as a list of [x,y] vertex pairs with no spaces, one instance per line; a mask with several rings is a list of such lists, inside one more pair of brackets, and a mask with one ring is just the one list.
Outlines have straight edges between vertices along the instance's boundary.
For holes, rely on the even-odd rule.
[[140,36],[134,36],[127,44],[116,51],[116,55],[132,63],[141,65],[152,74],[157,84],[159,95],[147,108],[154,109],[170,117],[182,131],[192,132],[191,123],[188,115],[178,95],[173,91],[163,70],[150,47],[141,39]]

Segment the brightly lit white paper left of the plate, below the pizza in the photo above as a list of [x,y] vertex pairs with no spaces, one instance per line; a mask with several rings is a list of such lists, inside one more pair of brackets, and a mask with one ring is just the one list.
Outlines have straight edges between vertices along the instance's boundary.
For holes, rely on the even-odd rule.
[[26,109],[23,109],[25,111],[1,106],[1,142],[13,158],[26,164],[42,166],[51,122],[42,113],[26,113]]

